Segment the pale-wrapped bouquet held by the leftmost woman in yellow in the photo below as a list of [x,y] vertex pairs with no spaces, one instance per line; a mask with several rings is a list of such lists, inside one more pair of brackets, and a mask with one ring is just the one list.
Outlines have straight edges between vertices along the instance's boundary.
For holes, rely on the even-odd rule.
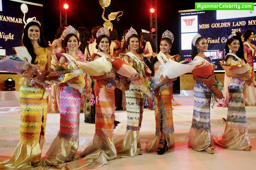
[[28,70],[28,68],[30,68],[32,72],[41,74],[38,65],[25,61],[18,54],[6,56],[0,60],[0,71],[22,74],[24,71]]

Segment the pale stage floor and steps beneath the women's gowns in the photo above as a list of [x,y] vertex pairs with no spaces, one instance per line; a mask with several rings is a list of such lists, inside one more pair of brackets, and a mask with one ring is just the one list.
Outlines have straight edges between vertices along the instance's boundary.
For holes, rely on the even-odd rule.
[[[216,146],[214,154],[197,152],[188,147],[188,132],[192,122],[193,96],[174,95],[174,102],[182,106],[173,106],[175,147],[170,148],[164,155],[156,152],[147,153],[133,158],[118,158],[108,161],[100,169],[108,170],[250,170],[255,169],[256,158],[256,107],[246,107],[248,119],[248,132],[252,151],[238,151],[222,149]],[[217,104],[216,104],[217,105]],[[228,108],[214,106],[211,109],[211,130],[213,135],[224,132]],[[114,140],[122,137],[126,130],[126,111],[116,111],[116,120],[121,123],[114,130]],[[48,113],[46,122],[46,143],[42,150],[42,156],[50,147],[60,122],[60,115]],[[80,114],[79,148],[83,151],[94,135],[94,124],[84,123],[84,114]],[[18,100],[0,101],[0,159],[11,156],[20,140],[20,107]],[[142,127],[140,129],[140,141],[152,141],[155,133],[154,111],[144,109]],[[142,145],[145,147],[145,145]]]

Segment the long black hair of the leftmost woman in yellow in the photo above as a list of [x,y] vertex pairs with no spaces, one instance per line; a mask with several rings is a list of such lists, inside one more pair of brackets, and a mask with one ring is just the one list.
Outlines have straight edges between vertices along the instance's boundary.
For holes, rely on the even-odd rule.
[[31,26],[33,26],[33,25],[38,26],[38,27],[39,27],[39,30],[40,30],[40,41],[38,41],[39,46],[46,48],[46,41],[45,41],[45,39],[44,39],[44,31],[42,30],[42,27],[41,27],[37,22],[34,22],[34,21],[29,22],[29,23],[25,26],[24,31],[23,31],[22,43],[23,43],[23,45],[27,48],[28,53],[29,53],[30,56],[32,57],[31,63],[32,63],[32,64],[36,64],[36,63],[35,63],[35,60],[36,60],[36,56],[37,56],[37,55],[36,55],[36,53],[34,52],[35,49],[34,49],[32,43],[31,43],[31,40],[30,40],[29,37],[28,37],[28,29],[29,29],[29,27],[31,27]]

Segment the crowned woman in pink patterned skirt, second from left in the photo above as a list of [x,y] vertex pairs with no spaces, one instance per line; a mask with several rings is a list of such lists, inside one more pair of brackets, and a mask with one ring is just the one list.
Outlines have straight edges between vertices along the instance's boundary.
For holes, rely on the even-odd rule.
[[[74,68],[78,61],[83,59],[76,53],[78,49],[78,32],[72,26],[68,26],[64,33],[64,47],[66,53],[62,53],[59,59],[60,64],[68,63]],[[83,72],[82,72],[83,73]],[[60,130],[57,137],[52,142],[49,150],[46,152],[44,159],[41,161],[42,166],[62,164],[64,162],[79,159],[76,153],[78,149],[78,131],[80,118],[81,90],[88,93],[90,87],[87,87],[89,81],[84,75],[79,73],[78,76],[71,78],[68,82],[60,84]],[[81,75],[82,76],[81,76]],[[74,81],[83,82],[73,86]],[[85,85],[84,85],[85,84]],[[80,90],[80,91],[79,91]]]

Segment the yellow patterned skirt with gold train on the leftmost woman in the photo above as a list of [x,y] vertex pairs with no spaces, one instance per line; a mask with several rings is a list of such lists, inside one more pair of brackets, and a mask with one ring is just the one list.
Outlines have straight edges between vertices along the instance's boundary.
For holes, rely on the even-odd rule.
[[29,169],[30,162],[40,158],[47,116],[44,93],[44,88],[20,87],[20,143],[12,157],[0,163],[0,169]]

